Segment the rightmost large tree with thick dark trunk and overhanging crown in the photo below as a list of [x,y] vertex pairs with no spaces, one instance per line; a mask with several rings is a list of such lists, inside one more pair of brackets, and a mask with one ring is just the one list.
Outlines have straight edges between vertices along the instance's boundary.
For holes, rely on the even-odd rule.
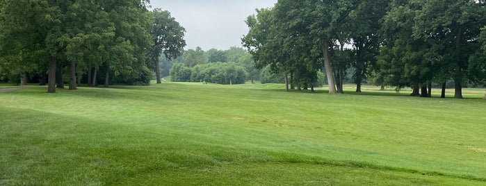
[[462,87],[467,80],[468,59],[476,52],[480,28],[485,24],[485,10],[482,3],[473,0],[417,1],[413,35],[423,40],[434,40],[444,47],[439,53],[444,59],[451,59],[454,97],[462,99]]

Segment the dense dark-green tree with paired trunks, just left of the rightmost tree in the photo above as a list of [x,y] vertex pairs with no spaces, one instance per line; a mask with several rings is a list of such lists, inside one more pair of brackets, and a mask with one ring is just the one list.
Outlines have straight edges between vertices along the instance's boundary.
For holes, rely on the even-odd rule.
[[387,76],[387,85],[393,85],[397,90],[412,85],[412,96],[427,97],[427,85],[432,81],[437,56],[431,42],[413,37],[416,23],[412,17],[416,17],[420,10],[421,5],[416,1],[391,3],[383,19],[381,38],[384,47],[380,49],[377,64],[384,72],[381,76]]

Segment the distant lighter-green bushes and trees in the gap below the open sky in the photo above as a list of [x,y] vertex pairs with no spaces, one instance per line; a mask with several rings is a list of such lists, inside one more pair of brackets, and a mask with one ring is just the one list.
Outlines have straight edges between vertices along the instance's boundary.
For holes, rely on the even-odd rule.
[[[240,84],[246,80],[258,80],[261,74],[261,70],[254,67],[250,53],[240,47],[224,51],[204,51],[196,47],[184,51],[173,61],[163,60],[161,64],[164,69],[170,69],[172,81]],[[168,72],[163,75],[169,76]]]

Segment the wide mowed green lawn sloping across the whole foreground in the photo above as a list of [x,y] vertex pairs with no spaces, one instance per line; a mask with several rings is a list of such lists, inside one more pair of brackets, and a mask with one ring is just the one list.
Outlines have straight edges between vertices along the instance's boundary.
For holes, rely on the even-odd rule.
[[0,185],[486,185],[481,90],[46,90],[0,93]]

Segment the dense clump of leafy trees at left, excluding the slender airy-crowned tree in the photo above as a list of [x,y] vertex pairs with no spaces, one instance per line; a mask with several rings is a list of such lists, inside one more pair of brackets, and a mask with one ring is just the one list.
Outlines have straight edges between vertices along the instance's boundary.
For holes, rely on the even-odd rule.
[[[34,71],[43,76],[47,66],[48,92],[56,92],[56,69],[62,71],[67,61],[70,90],[76,90],[81,69],[90,74],[92,67],[106,67],[106,80],[111,71],[138,78],[145,71],[149,48],[145,4],[139,0],[2,2],[1,48],[10,49],[1,58],[17,61],[9,67],[19,74]],[[8,43],[13,47],[5,47]],[[62,76],[57,80],[63,83]]]

